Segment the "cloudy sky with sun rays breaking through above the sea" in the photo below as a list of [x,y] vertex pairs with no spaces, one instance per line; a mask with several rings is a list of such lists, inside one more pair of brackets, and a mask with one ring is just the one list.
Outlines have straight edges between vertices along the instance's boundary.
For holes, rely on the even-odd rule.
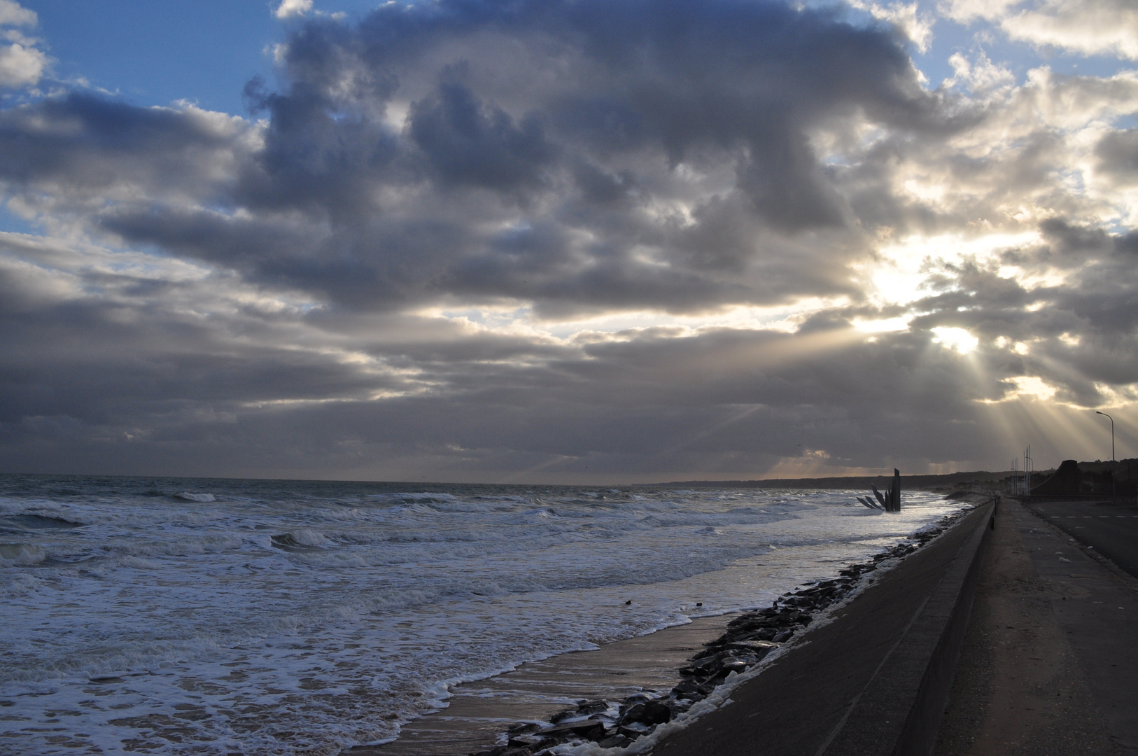
[[1123,0],[0,0],[0,471],[1138,454]]

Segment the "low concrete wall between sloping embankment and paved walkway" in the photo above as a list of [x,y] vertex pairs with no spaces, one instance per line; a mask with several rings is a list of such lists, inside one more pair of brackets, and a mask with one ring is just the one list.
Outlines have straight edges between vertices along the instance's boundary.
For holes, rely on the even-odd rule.
[[933,751],[968,626],[995,504],[852,706],[825,756],[924,756]]

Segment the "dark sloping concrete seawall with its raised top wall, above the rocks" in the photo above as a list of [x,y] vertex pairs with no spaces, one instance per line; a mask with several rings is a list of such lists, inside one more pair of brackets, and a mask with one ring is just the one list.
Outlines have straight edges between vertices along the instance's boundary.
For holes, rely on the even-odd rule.
[[814,628],[667,756],[929,754],[968,623],[993,504],[906,558]]

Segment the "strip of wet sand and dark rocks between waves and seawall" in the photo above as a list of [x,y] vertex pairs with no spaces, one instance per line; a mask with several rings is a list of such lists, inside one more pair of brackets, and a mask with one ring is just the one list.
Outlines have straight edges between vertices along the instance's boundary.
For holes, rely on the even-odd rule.
[[[643,753],[729,701],[731,690],[798,646],[795,640],[808,638],[803,631],[828,624],[834,611],[971,511],[948,515],[874,557],[848,565],[836,577],[784,593],[769,607],[696,618],[456,685],[447,708],[404,725],[395,740],[341,754],[531,756],[559,746]],[[629,669],[629,662],[636,667],[643,655],[653,657],[658,668],[648,674],[640,667]],[[660,665],[663,657],[668,664]]]

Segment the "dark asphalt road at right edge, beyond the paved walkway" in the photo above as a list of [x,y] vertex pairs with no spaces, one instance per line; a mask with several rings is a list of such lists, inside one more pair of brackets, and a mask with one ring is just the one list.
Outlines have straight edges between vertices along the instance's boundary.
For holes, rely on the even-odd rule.
[[1138,509],[1132,504],[1048,501],[1024,506],[1138,577]]

